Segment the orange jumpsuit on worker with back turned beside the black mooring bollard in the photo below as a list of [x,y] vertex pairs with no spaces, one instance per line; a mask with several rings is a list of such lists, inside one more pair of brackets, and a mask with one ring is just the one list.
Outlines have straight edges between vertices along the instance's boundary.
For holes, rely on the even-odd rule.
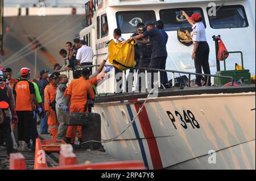
[[[86,80],[84,78],[75,79],[68,86],[66,94],[71,95],[71,106],[70,112],[85,112],[85,104],[87,101],[87,95],[89,94],[90,98],[93,99],[95,97],[92,83],[96,83],[97,78]],[[64,93],[65,95],[65,93]],[[87,111],[87,110],[86,110]],[[75,143],[76,138],[76,130],[78,129],[79,135],[78,137],[82,137],[82,127],[77,126],[69,126],[66,137],[71,138],[71,144]]]

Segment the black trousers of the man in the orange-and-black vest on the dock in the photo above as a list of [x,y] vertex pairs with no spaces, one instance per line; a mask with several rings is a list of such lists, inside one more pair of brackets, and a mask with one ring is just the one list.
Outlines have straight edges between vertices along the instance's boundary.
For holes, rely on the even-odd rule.
[[18,140],[30,142],[31,130],[33,127],[32,111],[16,111],[18,116]]

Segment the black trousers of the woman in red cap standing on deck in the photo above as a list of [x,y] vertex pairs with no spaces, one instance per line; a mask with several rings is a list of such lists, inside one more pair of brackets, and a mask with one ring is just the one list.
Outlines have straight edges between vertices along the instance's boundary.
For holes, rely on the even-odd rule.
[[[197,50],[196,50],[196,59],[195,59],[195,68],[196,73],[201,74],[202,68],[204,70],[204,74],[210,74],[210,66],[209,66],[209,52],[210,48],[207,41],[200,41]],[[196,75],[196,84],[201,86],[201,75]],[[205,76],[205,82],[207,82],[208,76]],[[210,86],[210,77],[208,86]]]

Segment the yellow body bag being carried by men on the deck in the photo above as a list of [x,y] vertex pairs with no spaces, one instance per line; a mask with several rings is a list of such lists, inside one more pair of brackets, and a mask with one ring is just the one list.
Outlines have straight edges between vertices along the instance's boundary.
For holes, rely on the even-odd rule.
[[136,65],[134,60],[134,42],[125,43],[114,40],[109,42],[109,62],[119,70],[127,70],[133,68]]

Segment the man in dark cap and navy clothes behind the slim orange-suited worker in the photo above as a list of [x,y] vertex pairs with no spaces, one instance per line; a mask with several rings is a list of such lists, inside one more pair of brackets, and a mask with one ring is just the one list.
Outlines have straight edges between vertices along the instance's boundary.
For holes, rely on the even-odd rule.
[[[48,70],[41,70],[40,71],[40,81],[38,81],[38,87],[40,91],[40,95],[44,104],[44,88],[49,84],[48,81]],[[48,124],[47,124],[48,117],[45,115],[41,117],[40,120],[40,133],[41,134],[49,134],[48,133]]]

